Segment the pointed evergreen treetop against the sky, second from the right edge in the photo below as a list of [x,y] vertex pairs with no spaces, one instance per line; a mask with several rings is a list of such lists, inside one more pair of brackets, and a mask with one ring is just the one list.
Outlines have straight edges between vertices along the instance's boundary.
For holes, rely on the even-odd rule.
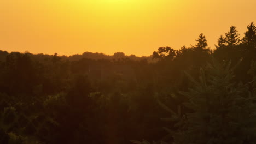
[[238,34],[237,32],[238,31],[236,30],[236,27],[231,26],[228,33],[225,33],[225,41],[229,47],[234,47],[235,45],[240,43],[240,34]]

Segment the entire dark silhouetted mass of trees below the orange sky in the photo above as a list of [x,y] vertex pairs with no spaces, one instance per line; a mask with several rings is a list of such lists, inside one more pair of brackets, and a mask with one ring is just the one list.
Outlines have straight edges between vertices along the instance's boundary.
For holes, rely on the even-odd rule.
[[0,143],[255,143],[255,54],[253,22],[214,50],[0,51]]

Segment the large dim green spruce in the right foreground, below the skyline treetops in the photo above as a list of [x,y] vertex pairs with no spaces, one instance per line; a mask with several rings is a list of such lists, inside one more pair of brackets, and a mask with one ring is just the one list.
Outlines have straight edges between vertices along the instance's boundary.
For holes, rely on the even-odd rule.
[[186,114],[187,129],[174,135],[175,143],[255,143],[256,98],[247,85],[232,81],[230,65],[213,60],[207,75],[201,69],[200,82],[189,76],[195,87],[182,94],[194,112]]

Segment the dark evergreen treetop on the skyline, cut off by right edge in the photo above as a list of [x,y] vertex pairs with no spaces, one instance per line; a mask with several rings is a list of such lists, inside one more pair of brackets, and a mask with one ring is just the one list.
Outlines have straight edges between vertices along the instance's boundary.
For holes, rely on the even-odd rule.
[[245,32],[245,37],[243,38],[243,43],[247,45],[256,44],[256,26],[252,22],[247,26],[247,31]]

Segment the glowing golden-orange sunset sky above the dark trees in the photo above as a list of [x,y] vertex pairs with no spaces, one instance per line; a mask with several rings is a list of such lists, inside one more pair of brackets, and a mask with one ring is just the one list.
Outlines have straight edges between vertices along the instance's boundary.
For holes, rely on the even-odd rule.
[[0,0],[0,50],[149,56],[256,23],[255,0]]

